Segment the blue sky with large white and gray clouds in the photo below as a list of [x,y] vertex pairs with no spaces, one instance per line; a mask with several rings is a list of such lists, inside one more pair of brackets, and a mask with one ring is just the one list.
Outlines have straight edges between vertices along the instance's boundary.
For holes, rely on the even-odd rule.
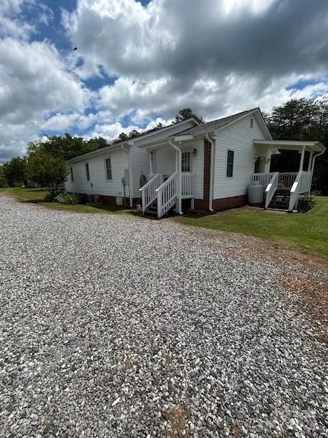
[[327,0],[0,0],[0,163],[184,107],[213,120],[324,96],[327,26]]

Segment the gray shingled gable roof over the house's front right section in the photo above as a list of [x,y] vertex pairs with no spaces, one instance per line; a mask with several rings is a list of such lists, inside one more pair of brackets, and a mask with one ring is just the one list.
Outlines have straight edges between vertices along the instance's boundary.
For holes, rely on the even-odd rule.
[[245,116],[249,116],[250,114],[253,114],[254,112],[258,113],[260,116],[260,121],[262,122],[263,128],[265,131],[267,131],[268,137],[271,139],[271,134],[269,132],[269,129],[267,128],[267,125],[264,122],[262,113],[260,112],[260,108],[252,108],[251,110],[238,112],[236,114],[232,114],[232,116],[218,118],[217,120],[212,120],[208,123],[203,123],[202,125],[195,126],[193,128],[187,129],[186,131],[182,131],[179,134],[177,134],[175,137],[179,136],[201,136],[206,133],[210,133],[213,131],[218,131],[219,129],[222,129],[223,127],[226,127],[230,125],[231,123],[236,122],[237,120],[240,120],[241,118],[244,118]]

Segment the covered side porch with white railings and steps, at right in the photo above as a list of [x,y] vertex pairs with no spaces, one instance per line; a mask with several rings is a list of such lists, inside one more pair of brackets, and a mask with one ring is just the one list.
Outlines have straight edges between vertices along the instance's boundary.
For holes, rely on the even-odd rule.
[[[299,151],[298,172],[256,172],[252,175],[252,180],[263,186],[264,208],[275,207],[280,200],[280,206],[286,205],[284,209],[297,211],[299,196],[310,196],[316,157],[325,152],[325,146],[320,142],[297,140],[254,140],[254,146],[266,147],[270,155],[282,150]],[[305,154],[308,154],[306,169]]]

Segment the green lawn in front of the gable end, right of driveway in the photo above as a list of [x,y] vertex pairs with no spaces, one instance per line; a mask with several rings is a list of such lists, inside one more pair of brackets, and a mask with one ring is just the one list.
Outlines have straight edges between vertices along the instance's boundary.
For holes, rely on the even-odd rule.
[[182,224],[262,237],[299,246],[328,257],[328,197],[316,196],[314,208],[304,214],[277,214],[243,207],[210,216],[179,218]]

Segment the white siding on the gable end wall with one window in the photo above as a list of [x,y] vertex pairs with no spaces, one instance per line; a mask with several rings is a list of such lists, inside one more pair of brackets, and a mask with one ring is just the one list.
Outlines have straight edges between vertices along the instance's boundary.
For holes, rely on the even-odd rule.
[[[251,118],[254,119],[251,128]],[[248,116],[218,133],[215,140],[214,198],[230,198],[247,194],[254,172],[254,157],[269,157],[266,149],[253,144],[254,139],[264,139],[256,117]],[[233,177],[226,177],[228,150],[234,151]]]

